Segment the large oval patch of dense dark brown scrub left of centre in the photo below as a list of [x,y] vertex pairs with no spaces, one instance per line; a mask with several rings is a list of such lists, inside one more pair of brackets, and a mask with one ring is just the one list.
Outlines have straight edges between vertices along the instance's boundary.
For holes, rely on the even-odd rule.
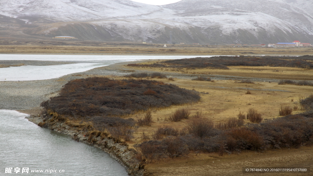
[[199,93],[155,80],[76,79],[41,106],[72,117],[122,116],[200,100]]

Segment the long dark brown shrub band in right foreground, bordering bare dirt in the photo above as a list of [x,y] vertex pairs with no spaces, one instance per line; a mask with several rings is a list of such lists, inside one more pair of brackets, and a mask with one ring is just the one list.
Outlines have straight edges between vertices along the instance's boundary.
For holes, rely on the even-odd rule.
[[[313,143],[313,112],[288,115],[260,124],[226,129],[213,128],[212,121],[203,118],[192,119],[188,124],[188,134],[178,133],[171,127],[159,128],[154,140],[144,142],[139,150],[149,161],[169,157],[164,141],[177,141],[176,153],[189,151],[232,153],[241,150],[260,150],[266,148],[299,147]],[[164,136],[172,136],[165,137]],[[157,136],[157,135],[156,135]],[[174,137],[173,137],[174,136]],[[159,140],[161,139],[161,141]],[[172,155],[174,156],[174,155]],[[184,156],[176,154],[176,157]]]

